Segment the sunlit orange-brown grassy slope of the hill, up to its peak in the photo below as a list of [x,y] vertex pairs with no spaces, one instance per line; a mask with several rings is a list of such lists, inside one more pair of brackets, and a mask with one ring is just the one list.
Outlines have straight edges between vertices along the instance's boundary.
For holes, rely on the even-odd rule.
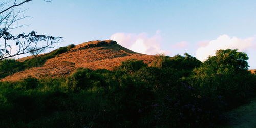
[[[33,57],[29,56],[18,61],[25,61],[31,58]],[[14,73],[1,81],[17,81],[28,76],[40,78],[65,75],[80,67],[111,70],[115,66],[119,66],[122,61],[129,59],[143,60],[145,63],[150,63],[154,57],[133,52],[112,40],[89,41],[76,45],[69,51],[48,59],[41,67],[33,67]]]

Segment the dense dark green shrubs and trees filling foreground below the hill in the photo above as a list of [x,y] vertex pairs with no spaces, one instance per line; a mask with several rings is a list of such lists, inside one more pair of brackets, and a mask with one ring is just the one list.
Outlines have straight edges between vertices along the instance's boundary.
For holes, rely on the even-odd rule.
[[0,83],[0,127],[210,127],[255,96],[248,57],[219,50],[200,62],[157,55],[150,66],[80,68],[63,78]]

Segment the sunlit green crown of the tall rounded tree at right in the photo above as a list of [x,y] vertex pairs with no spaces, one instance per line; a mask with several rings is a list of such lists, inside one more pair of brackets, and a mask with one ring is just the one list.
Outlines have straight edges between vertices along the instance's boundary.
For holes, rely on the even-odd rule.
[[202,79],[201,82],[215,77],[224,79],[224,76],[248,74],[247,60],[247,54],[238,52],[237,49],[217,50],[216,55],[209,56],[201,67],[194,70],[194,73],[196,77]]

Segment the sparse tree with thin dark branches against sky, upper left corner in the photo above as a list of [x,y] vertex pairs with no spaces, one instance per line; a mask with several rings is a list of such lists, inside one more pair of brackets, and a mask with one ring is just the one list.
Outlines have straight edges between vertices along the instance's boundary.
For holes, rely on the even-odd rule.
[[26,18],[23,14],[25,10],[18,9],[17,7],[31,1],[22,0],[18,2],[18,0],[11,0],[0,3],[0,8],[2,8],[0,10],[0,60],[52,48],[51,46],[54,43],[62,40],[61,37],[38,35],[35,31],[18,35],[10,33],[13,29],[25,26],[18,24],[19,20]]

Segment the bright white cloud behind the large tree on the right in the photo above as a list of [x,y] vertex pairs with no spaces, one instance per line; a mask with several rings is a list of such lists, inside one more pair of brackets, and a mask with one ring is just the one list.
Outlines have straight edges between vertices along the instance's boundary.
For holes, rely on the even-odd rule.
[[207,43],[199,44],[196,50],[197,59],[204,61],[208,56],[215,55],[215,51],[219,49],[238,49],[240,52],[245,52],[253,46],[254,38],[240,39],[237,37],[229,37],[228,35],[221,35],[216,40],[208,41]]

